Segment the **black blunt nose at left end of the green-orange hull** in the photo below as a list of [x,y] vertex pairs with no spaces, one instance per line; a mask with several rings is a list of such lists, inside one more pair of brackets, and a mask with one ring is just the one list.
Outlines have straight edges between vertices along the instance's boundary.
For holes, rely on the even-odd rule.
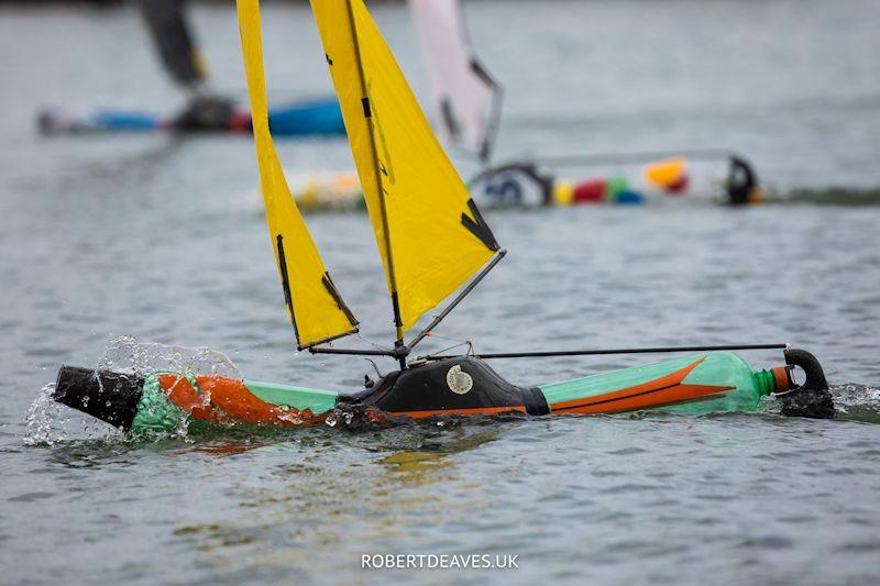
[[143,386],[144,379],[134,374],[62,366],[52,398],[128,430],[138,414]]

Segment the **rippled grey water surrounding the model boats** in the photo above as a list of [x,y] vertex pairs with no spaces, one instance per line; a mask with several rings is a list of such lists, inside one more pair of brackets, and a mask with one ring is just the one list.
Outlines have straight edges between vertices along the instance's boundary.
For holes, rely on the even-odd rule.
[[[370,5],[426,96],[404,5]],[[425,350],[791,342],[823,362],[840,416],[144,444],[38,406],[55,418],[42,436],[25,423],[41,388],[119,335],[210,346],[250,378],[319,388],[355,389],[372,366],[295,351],[251,141],[34,133],[42,106],[180,104],[131,7],[4,5],[0,583],[880,583],[880,207],[833,197],[880,186],[880,3],[473,2],[466,15],[506,89],[501,156],[726,146],[825,204],[490,214],[508,257]],[[331,91],[307,5],[268,4],[264,21],[272,97]],[[232,8],[198,5],[195,22],[216,86],[243,97]],[[342,141],[278,151],[294,173],[351,166]],[[309,225],[363,336],[387,343],[366,218]],[[528,384],[646,360],[494,366]],[[510,554],[519,568],[361,568],[397,553]]]

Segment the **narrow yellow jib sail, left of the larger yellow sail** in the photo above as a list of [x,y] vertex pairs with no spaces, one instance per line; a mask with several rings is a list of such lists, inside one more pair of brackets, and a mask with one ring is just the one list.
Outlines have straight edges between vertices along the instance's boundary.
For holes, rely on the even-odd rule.
[[268,130],[266,81],[260,1],[238,0],[239,29],[251,97],[256,159],[266,203],[272,246],[278,263],[287,309],[299,347],[311,346],[358,331],[351,314],[324,268],[318,248],[290,195]]

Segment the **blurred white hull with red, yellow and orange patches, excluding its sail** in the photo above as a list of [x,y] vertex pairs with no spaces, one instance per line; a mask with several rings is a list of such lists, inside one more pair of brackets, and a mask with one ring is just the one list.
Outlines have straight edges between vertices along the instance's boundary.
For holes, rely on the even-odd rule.
[[[468,187],[483,209],[670,203],[743,206],[763,201],[758,176],[741,155],[702,152],[657,158],[659,155],[512,162],[477,174]],[[609,159],[617,164],[610,164]],[[591,167],[601,169],[587,170]],[[572,173],[572,168],[580,168],[580,174]],[[354,172],[292,172],[288,178],[297,204],[304,210],[364,209],[361,184]]]

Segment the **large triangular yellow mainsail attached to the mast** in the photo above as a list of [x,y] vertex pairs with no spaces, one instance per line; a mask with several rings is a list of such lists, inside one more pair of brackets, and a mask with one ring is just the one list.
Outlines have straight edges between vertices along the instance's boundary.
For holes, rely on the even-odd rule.
[[363,0],[311,0],[397,338],[498,250]]

